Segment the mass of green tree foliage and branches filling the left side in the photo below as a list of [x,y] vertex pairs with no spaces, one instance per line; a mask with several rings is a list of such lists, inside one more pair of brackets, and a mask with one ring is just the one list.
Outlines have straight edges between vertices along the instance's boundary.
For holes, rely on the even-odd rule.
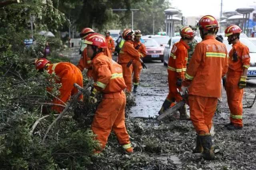
[[[31,17],[35,41],[24,47]],[[91,164],[89,156],[98,142],[90,130],[80,130],[72,116],[63,118],[58,133],[50,131],[44,143],[42,137],[56,119],[53,113],[30,134],[35,121],[44,116],[47,104],[42,103],[51,103],[59,87],[57,77],[34,68],[34,59],[42,57],[44,44],[50,41],[37,33],[60,29],[66,16],[51,0],[26,0],[0,8],[0,20],[0,169],[83,169]],[[60,47],[58,40],[52,41],[56,44],[51,50]],[[46,87],[53,87],[51,95]]]

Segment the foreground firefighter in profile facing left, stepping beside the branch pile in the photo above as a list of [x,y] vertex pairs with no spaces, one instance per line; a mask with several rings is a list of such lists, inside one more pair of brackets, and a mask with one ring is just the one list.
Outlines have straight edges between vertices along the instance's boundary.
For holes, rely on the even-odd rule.
[[[126,85],[122,67],[102,52],[107,48],[107,42],[101,34],[90,34],[86,38],[87,56],[92,59],[92,77],[94,88],[89,97],[89,103],[96,103],[96,94],[102,93],[102,102],[98,105],[92,121],[92,131],[102,144],[106,146],[108,136],[113,130],[126,153],[132,153],[133,148],[124,122]],[[98,151],[100,152],[100,151]]]

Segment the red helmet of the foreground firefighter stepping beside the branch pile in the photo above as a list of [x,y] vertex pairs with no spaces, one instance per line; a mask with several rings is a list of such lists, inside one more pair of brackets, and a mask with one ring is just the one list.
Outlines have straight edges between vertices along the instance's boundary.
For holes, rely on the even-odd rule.
[[106,38],[98,33],[90,34],[85,38],[85,43],[90,45],[95,45],[98,48],[107,48]]

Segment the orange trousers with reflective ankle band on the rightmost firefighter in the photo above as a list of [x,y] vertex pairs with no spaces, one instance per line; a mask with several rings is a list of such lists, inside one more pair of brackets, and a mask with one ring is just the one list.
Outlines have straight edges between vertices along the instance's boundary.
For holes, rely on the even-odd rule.
[[241,73],[228,73],[226,79],[226,93],[228,98],[228,107],[230,109],[230,122],[238,127],[243,126],[243,95],[244,90],[239,89]]

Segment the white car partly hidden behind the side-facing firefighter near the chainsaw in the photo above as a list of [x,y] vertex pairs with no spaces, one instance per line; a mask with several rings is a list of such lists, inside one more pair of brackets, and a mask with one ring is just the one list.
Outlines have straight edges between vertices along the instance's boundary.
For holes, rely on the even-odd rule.
[[[181,38],[180,36],[172,37],[168,41],[167,45],[164,46],[164,65],[165,66],[168,65],[168,61],[169,61],[172,46],[174,45],[174,43],[180,41],[180,38]],[[200,38],[198,36],[195,36],[195,39],[197,40],[197,42],[202,41],[202,38]]]

